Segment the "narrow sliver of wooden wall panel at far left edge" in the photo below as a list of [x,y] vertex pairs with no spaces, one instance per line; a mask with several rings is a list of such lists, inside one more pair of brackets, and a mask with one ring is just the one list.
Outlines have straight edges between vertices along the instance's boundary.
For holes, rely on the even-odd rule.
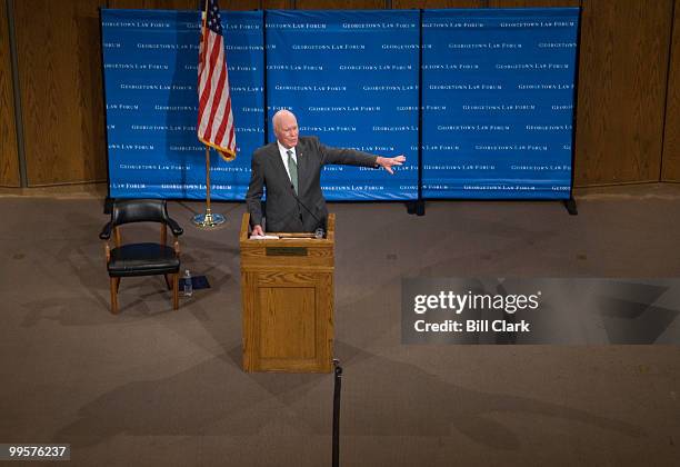
[[14,87],[7,14],[7,4],[0,1],[0,186],[19,187],[21,183],[14,125]]

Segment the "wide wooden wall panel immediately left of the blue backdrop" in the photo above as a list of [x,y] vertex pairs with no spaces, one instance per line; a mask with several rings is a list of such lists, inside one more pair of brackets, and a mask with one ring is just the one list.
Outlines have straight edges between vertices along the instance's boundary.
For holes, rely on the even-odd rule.
[[99,7],[14,2],[29,186],[106,180]]

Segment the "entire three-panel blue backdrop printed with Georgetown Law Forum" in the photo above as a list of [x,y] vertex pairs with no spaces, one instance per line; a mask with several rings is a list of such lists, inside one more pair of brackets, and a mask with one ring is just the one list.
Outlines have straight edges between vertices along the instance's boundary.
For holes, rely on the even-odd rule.
[[[393,177],[328,167],[328,199],[417,198],[419,98],[423,198],[568,198],[578,12],[424,10],[421,95],[419,11],[223,12],[238,152],[212,152],[211,196],[244,197],[267,57],[268,118],[289,108],[301,135],[408,158]],[[199,34],[198,11],[102,10],[112,197],[204,199]]]

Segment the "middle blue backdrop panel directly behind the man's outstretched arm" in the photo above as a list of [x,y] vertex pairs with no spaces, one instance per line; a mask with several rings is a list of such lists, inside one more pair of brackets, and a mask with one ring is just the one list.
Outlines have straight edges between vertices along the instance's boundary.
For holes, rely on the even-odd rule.
[[267,12],[269,117],[287,108],[326,145],[407,157],[392,177],[327,166],[326,198],[418,198],[419,23],[418,11]]

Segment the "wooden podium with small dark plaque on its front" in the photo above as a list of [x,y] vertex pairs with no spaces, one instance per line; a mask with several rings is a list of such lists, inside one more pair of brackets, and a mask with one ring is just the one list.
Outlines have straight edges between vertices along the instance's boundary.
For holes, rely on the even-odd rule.
[[[241,221],[243,370],[330,372],[333,358],[336,217],[326,238],[268,234],[249,239],[250,215]],[[286,237],[283,237],[286,236]]]

